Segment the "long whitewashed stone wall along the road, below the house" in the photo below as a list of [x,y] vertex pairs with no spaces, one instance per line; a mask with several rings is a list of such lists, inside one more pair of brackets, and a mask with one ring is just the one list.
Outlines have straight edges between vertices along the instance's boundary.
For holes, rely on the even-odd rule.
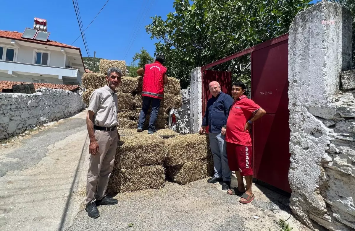
[[77,92],[41,88],[34,94],[0,93],[0,139],[84,109]]

